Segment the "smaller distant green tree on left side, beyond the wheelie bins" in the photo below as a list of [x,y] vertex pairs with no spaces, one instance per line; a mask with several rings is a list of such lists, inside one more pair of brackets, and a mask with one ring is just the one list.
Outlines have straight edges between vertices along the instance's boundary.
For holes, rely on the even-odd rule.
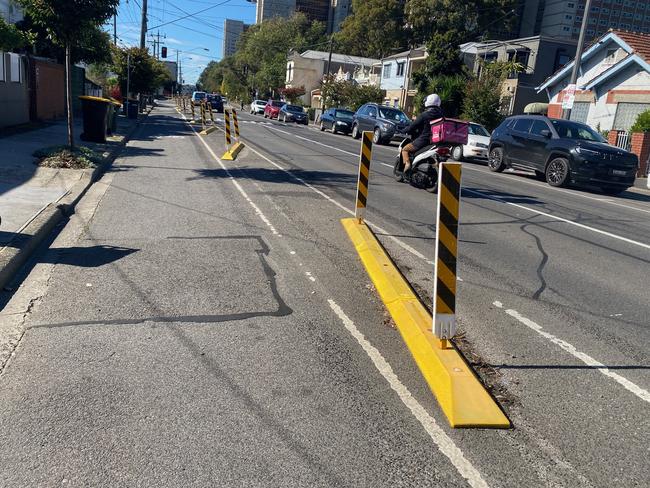
[[165,65],[139,47],[113,47],[112,70],[117,75],[122,93],[126,93],[127,66],[131,93],[150,93],[169,81]]

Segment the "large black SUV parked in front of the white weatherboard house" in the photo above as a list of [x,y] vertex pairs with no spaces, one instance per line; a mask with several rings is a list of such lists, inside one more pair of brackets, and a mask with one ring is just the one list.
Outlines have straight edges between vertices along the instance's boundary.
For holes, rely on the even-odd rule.
[[639,160],[586,124],[518,115],[492,133],[488,167],[533,170],[551,186],[589,184],[616,194],[634,185]]

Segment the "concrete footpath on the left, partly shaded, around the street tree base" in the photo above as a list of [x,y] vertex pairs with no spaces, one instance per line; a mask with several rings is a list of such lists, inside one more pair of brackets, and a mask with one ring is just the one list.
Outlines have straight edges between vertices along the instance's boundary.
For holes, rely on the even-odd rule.
[[60,217],[106,169],[137,127],[137,120],[120,115],[117,131],[106,143],[81,141],[83,119],[75,120],[75,141],[103,154],[99,168],[44,168],[35,164],[34,151],[63,145],[66,121],[0,138],[0,287],[6,286],[29,253]]

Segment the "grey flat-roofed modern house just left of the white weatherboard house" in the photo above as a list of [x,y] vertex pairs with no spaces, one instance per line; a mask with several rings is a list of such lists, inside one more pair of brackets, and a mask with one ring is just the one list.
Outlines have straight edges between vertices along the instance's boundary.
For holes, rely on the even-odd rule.
[[576,53],[577,42],[547,36],[522,37],[505,41],[470,42],[460,46],[463,60],[476,75],[481,61],[517,61],[523,71],[511,73],[502,84],[501,111],[505,115],[521,114],[526,105],[546,102],[547,97],[536,87]]

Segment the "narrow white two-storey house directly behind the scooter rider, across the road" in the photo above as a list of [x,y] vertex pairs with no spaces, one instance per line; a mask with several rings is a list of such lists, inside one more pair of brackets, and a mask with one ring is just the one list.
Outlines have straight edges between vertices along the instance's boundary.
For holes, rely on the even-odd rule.
[[384,90],[384,105],[398,107],[406,113],[413,113],[413,98],[417,88],[413,86],[412,75],[426,62],[426,48],[419,47],[404,51],[381,60],[380,88]]

